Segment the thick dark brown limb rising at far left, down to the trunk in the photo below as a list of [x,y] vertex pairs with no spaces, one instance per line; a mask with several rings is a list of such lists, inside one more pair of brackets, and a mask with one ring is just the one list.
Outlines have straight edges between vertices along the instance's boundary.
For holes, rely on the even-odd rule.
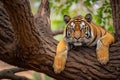
[[13,54],[14,59],[17,59],[18,56],[21,57],[21,59],[18,59],[18,62],[24,64],[21,66],[25,66],[25,60],[29,63],[28,61],[31,59],[29,55],[40,53],[39,49],[43,45],[40,39],[40,32],[34,23],[34,16],[31,13],[29,0],[1,1],[4,3],[15,34],[16,41],[14,42],[15,47],[13,49],[18,54]]

